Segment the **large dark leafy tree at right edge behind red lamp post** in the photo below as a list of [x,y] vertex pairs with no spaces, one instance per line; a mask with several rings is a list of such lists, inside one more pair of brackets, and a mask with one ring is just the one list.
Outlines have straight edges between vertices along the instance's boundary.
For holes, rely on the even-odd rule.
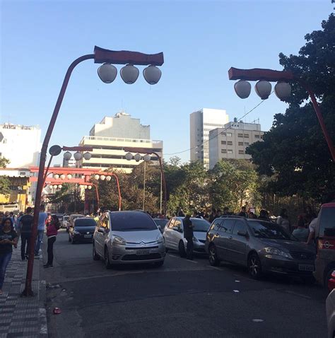
[[[280,54],[285,70],[293,71],[315,91],[324,122],[335,141],[335,17],[322,22],[322,30],[305,36],[298,55]],[[335,165],[308,94],[293,83],[293,95],[285,114],[276,114],[264,141],[252,144],[247,153],[261,175],[271,177],[271,192],[326,202],[335,198]]]

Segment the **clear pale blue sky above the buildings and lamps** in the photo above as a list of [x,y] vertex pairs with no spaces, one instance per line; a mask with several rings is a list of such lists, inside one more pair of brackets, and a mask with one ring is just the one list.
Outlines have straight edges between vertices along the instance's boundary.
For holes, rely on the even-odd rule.
[[[281,69],[278,54],[297,54],[304,36],[333,10],[319,1],[1,1],[1,122],[39,124],[44,136],[69,64],[94,45],[164,52],[160,83],[139,76],[100,81],[98,65],[78,66],[59,113],[52,144],[74,146],[95,122],[122,108],[165,153],[189,148],[189,114],[227,110],[230,120],[259,103],[254,90],[240,100],[230,66]],[[142,69],[142,67],[141,67]],[[268,130],[286,105],[274,95],[247,116]],[[168,157],[168,156],[167,156]],[[189,160],[189,152],[180,155]],[[58,163],[61,161],[57,160]]]

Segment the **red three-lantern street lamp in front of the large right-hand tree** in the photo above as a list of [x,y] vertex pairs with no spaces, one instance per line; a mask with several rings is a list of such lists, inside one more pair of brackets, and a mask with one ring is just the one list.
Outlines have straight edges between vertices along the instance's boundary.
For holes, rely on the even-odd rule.
[[315,93],[312,91],[310,86],[308,86],[307,83],[303,81],[302,78],[295,76],[292,71],[274,71],[272,69],[259,68],[237,69],[233,67],[229,69],[228,76],[230,80],[240,80],[235,83],[235,92],[238,96],[240,96],[240,98],[247,98],[250,94],[251,86],[247,81],[258,81],[255,89],[257,94],[263,100],[268,98],[269,94],[271,93],[271,84],[268,81],[278,81],[274,91],[278,98],[283,101],[287,100],[287,98],[290,96],[290,85],[288,83],[293,81],[300,83],[300,85],[305,88],[307,93],[310,95],[310,99],[312,100],[312,105],[317,115],[317,119],[319,120],[324,138],[327,141],[331,157],[335,162],[335,148],[327,132],[326,125],[324,124],[324,119],[322,117],[319,104],[317,103],[317,99],[315,98]]

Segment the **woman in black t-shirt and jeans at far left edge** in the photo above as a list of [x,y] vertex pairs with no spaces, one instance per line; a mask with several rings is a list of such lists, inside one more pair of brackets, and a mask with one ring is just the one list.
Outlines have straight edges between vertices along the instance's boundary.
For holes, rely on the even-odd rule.
[[8,263],[11,261],[13,246],[18,245],[18,235],[13,228],[11,218],[3,218],[0,229],[0,295],[4,286],[5,274]]

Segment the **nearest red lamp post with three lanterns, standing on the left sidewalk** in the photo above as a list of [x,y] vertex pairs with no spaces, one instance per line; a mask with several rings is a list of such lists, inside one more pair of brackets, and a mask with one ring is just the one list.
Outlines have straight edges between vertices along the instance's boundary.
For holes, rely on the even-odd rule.
[[37,236],[37,223],[38,215],[40,211],[40,202],[43,188],[43,176],[45,174],[45,160],[47,157],[47,147],[49,140],[54,130],[54,124],[56,123],[59,109],[64,98],[64,94],[69,83],[71,73],[74,68],[83,61],[93,59],[95,64],[102,64],[98,69],[98,76],[105,83],[111,83],[117,76],[117,69],[112,64],[126,64],[122,67],[120,73],[125,83],[134,83],[139,77],[139,69],[134,67],[136,65],[146,65],[146,69],[143,70],[143,76],[146,81],[150,84],[158,83],[160,80],[160,69],[157,66],[161,66],[164,63],[163,53],[158,54],[143,54],[139,52],[129,51],[113,51],[110,49],[103,49],[95,46],[94,54],[86,54],[78,59],[74,60],[66,71],[63,84],[61,85],[61,91],[59,92],[54,112],[52,113],[49,127],[45,134],[45,139],[41,148],[40,165],[37,178],[36,197],[35,197],[35,208],[33,216],[33,231],[32,238],[30,240],[30,253],[27,266],[27,275],[25,278],[25,289],[23,290],[22,296],[33,296],[32,279],[33,279],[33,266],[34,266],[34,243]]

